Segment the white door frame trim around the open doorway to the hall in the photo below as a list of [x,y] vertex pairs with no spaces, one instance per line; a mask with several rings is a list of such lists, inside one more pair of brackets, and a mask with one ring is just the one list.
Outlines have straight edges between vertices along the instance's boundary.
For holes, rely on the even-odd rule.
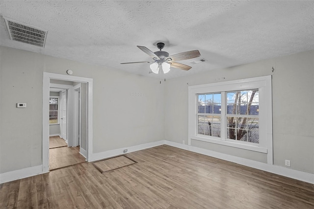
[[[78,77],[72,75],[43,72],[43,134],[42,134],[42,170],[44,173],[49,172],[49,96],[50,96],[50,79],[67,80],[74,82],[87,83],[87,155],[86,161],[93,153],[93,79]],[[72,129],[73,130],[73,129]],[[73,136],[73,135],[72,135]]]

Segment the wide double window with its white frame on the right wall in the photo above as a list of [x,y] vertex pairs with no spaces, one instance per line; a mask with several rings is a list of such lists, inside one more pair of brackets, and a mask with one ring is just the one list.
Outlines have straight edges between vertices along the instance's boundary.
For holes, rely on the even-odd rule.
[[191,139],[267,153],[272,163],[271,76],[189,87]]

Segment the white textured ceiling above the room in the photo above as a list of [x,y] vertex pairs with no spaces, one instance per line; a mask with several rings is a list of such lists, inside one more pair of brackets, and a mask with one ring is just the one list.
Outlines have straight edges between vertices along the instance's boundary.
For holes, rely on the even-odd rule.
[[[0,14],[48,30],[45,48],[11,41],[0,20],[0,45],[117,70],[148,74],[136,46],[176,54],[198,49],[207,62],[173,69],[174,78],[314,49],[314,1],[4,1]],[[75,69],[72,69],[75,72]]]

